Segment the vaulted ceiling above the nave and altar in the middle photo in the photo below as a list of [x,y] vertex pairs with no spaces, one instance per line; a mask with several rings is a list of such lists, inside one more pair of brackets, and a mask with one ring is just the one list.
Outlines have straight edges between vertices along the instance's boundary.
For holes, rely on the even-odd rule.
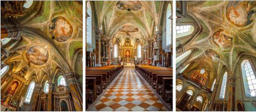
[[[94,1],[98,27],[113,43],[126,38],[146,43],[156,32],[164,15],[163,1]],[[120,31],[120,29],[123,29]],[[134,42],[135,42],[134,41]],[[132,43],[133,44],[133,43]],[[134,45],[134,44],[133,44]]]

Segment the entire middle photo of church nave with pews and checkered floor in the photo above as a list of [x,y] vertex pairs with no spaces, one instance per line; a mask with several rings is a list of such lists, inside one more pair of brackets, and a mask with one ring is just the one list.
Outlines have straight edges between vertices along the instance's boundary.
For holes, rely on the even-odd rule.
[[172,110],[172,1],[86,2],[86,110]]

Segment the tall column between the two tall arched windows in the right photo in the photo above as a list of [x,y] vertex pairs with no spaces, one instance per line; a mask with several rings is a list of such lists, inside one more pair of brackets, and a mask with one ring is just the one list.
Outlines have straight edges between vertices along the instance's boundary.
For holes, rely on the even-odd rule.
[[228,111],[234,111],[234,86],[236,78],[233,76],[233,74],[229,75],[227,81],[228,81],[228,102],[227,102],[227,110]]

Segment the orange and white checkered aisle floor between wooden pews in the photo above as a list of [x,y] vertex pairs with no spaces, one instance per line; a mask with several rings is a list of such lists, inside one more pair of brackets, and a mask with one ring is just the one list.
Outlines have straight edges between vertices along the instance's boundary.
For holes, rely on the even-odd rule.
[[89,109],[100,111],[167,110],[162,101],[139,75],[135,69],[123,69],[98,102]]

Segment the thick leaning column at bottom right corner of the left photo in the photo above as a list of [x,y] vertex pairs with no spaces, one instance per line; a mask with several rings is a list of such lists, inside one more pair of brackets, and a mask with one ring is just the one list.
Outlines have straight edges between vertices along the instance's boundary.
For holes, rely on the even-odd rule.
[[77,80],[78,75],[74,72],[69,72],[64,75],[67,79],[67,84],[70,88],[70,92],[72,95],[72,99],[74,101],[75,110],[82,111],[82,89],[79,86],[79,82]]

